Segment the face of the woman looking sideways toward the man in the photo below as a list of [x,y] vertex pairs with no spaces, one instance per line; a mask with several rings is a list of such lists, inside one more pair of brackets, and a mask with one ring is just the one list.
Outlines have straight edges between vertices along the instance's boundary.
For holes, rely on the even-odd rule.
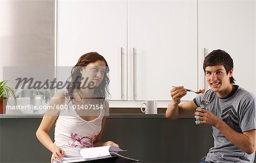
[[100,85],[102,79],[104,78],[106,65],[104,61],[99,60],[82,67],[80,72],[82,74],[81,85],[85,84],[85,87],[87,87],[89,82],[91,82],[92,85],[90,85],[90,88],[94,88]]

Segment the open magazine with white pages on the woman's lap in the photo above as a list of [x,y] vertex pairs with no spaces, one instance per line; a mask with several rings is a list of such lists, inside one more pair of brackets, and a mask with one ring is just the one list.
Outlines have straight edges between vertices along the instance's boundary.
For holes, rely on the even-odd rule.
[[92,148],[82,148],[80,150],[80,155],[82,157],[79,158],[61,158],[59,162],[62,163],[68,163],[68,162],[81,162],[81,161],[90,161],[90,160],[98,160],[102,158],[109,158],[109,157],[123,157],[127,158],[129,160],[133,161],[139,161],[134,158],[129,158],[126,156],[122,156],[119,153],[116,152],[121,152],[121,151],[126,151],[123,149],[120,149],[118,147],[114,146],[102,146],[102,147],[92,147]]

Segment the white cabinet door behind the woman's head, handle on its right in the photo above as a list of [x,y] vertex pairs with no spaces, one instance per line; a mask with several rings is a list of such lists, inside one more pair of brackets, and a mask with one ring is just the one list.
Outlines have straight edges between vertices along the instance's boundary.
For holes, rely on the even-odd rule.
[[74,66],[82,54],[97,52],[105,57],[110,68],[111,99],[126,99],[126,1],[57,3],[57,66]]

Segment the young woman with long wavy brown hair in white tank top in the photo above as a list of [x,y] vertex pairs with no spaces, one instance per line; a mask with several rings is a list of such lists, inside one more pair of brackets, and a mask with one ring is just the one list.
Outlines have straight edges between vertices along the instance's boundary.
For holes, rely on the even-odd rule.
[[[47,110],[36,136],[52,152],[51,162],[63,157],[81,157],[81,148],[119,147],[113,141],[100,140],[109,109],[105,101],[108,72],[108,63],[100,54],[91,52],[82,55],[72,68],[67,92],[56,93],[49,102],[53,109]],[[53,123],[54,143],[48,135]]]

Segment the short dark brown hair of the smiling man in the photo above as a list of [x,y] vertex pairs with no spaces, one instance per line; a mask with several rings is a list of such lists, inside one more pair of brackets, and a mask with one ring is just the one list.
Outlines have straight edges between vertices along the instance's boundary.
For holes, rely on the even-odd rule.
[[[229,73],[230,70],[233,69],[233,59],[230,57],[228,53],[226,53],[224,50],[213,50],[210,52],[210,54],[207,55],[204,59],[204,72],[205,68],[208,66],[217,66],[217,65],[222,65],[226,69],[226,74]],[[235,79],[232,77],[229,78],[230,83],[234,84]]]

